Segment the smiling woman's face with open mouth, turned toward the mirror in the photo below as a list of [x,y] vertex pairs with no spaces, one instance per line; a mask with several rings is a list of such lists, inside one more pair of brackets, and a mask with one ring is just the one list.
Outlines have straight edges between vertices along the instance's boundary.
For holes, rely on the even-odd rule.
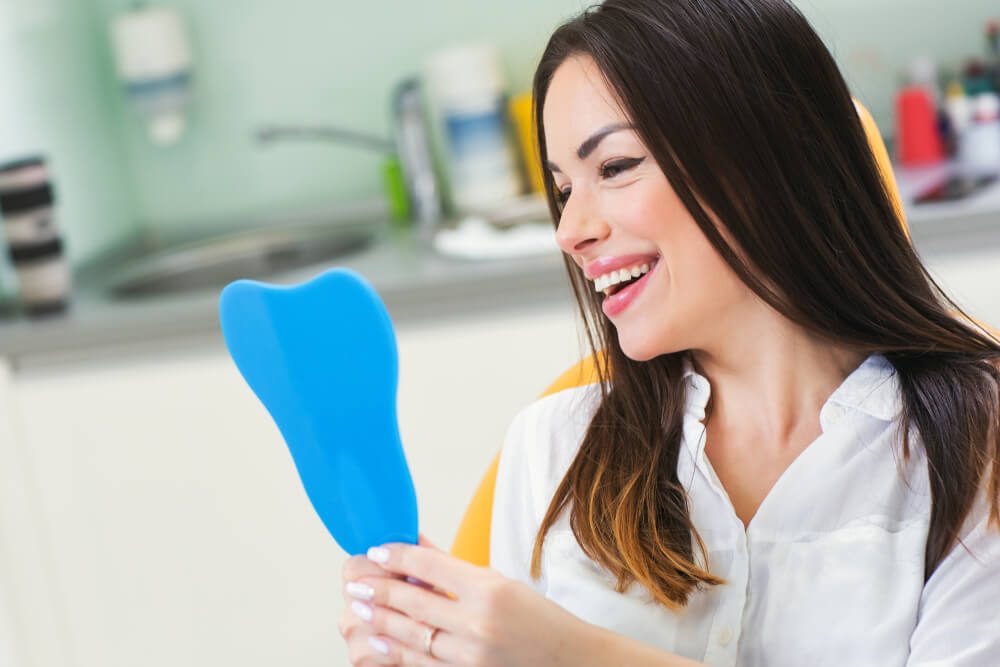
[[[622,351],[645,361],[732,335],[727,324],[752,292],[677,198],[593,60],[563,62],[544,104],[548,166],[564,200],[556,240],[605,294]],[[622,270],[635,282],[608,286]]]

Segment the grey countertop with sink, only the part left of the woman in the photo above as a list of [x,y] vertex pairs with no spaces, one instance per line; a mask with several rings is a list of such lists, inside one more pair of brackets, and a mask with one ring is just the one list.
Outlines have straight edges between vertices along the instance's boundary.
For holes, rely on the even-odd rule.
[[[562,259],[554,249],[549,255],[502,261],[453,259],[389,228],[379,229],[374,242],[356,254],[267,280],[297,283],[332,266],[365,276],[396,325],[572,298]],[[24,355],[217,334],[218,300],[217,288],[115,298],[81,280],[64,313],[0,320],[0,356],[16,363]]]

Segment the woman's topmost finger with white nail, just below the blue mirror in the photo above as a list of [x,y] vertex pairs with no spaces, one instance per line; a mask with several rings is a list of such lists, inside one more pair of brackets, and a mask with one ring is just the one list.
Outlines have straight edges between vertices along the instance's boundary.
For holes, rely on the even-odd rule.
[[368,550],[368,559],[390,572],[415,577],[460,598],[474,589],[475,581],[486,571],[443,551],[412,544],[373,547]]

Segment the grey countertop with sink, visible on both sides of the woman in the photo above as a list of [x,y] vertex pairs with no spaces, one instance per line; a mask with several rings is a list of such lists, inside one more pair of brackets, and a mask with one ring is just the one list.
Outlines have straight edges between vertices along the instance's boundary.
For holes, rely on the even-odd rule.
[[[904,201],[933,178],[933,170],[899,174]],[[995,248],[1000,262],[1000,184],[959,202],[907,206],[907,218],[914,244],[925,258]],[[548,255],[461,260],[445,257],[411,235],[386,227],[366,250],[330,265],[366,276],[397,325],[504,308],[565,307],[572,299],[554,246]],[[273,280],[299,282],[330,265],[306,267]],[[217,309],[218,289],[115,299],[81,281],[70,309],[63,314],[0,319],[0,357],[17,365],[24,357],[217,336]]]

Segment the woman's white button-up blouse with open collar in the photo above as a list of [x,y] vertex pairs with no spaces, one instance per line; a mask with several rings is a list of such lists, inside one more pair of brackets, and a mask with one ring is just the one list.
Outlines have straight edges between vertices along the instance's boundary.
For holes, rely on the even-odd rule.
[[580,549],[567,512],[535,534],[597,407],[597,385],[540,399],[512,423],[500,458],[490,561],[581,619],[709,665],[1000,666],[1000,534],[980,494],[961,536],[924,584],[930,515],[919,438],[900,453],[899,386],[869,357],[820,411],[821,435],[778,479],[748,528],[705,456],[708,381],[688,370],[678,477],[725,584],[681,611],[652,601]]

